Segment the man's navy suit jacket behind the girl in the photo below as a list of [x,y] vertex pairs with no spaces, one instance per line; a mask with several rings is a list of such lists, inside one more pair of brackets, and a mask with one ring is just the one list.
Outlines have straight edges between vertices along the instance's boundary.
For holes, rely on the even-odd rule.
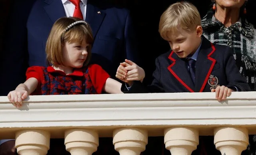
[[[12,8],[14,12],[0,66],[1,76],[4,76],[0,80],[0,95],[7,95],[23,83],[29,66],[47,66],[48,34],[54,22],[66,16],[61,0],[18,0]],[[91,64],[99,64],[115,77],[116,68],[125,58],[139,63],[128,10],[106,4],[104,0],[88,0],[86,22],[94,36]]]

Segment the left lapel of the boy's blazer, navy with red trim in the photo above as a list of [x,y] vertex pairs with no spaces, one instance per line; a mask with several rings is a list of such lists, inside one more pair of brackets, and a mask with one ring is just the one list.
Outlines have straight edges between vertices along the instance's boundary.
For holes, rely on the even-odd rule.
[[188,69],[186,68],[186,62],[178,58],[178,56],[172,51],[168,57],[172,64],[168,66],[168,70],[171,74],[184,86],[188,91],[194,92],[194,83],[190,77]]

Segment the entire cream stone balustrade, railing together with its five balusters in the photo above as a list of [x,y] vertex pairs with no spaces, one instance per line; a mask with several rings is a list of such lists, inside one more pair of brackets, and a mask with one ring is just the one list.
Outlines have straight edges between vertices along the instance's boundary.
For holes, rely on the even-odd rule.
[[29,96],[20,109],[0,97],[0,139],[16,139],[20,155],[46,155],[64,138],[71,155],[92,155],[113,137],[120,155],[140,155],[148,136],[164,136],[172,155],[190,155],[199,135],[214,135],[222,155],[240,155],[256,134],[256,92]]

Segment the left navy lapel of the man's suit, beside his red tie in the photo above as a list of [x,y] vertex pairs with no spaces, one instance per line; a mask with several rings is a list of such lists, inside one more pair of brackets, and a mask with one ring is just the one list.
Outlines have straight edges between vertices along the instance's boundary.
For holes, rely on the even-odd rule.
[[45,0],[44,10],[52,20],[56,22],[61,17],[65,17],[66,13],[61,0]]

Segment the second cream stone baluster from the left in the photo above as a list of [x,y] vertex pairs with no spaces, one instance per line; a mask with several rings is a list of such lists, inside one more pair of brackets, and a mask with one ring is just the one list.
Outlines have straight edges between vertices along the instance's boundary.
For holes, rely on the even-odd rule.
[[92,155],[99,145],[98,133],[90,129],[65,131],[66,150],[71,155]]

